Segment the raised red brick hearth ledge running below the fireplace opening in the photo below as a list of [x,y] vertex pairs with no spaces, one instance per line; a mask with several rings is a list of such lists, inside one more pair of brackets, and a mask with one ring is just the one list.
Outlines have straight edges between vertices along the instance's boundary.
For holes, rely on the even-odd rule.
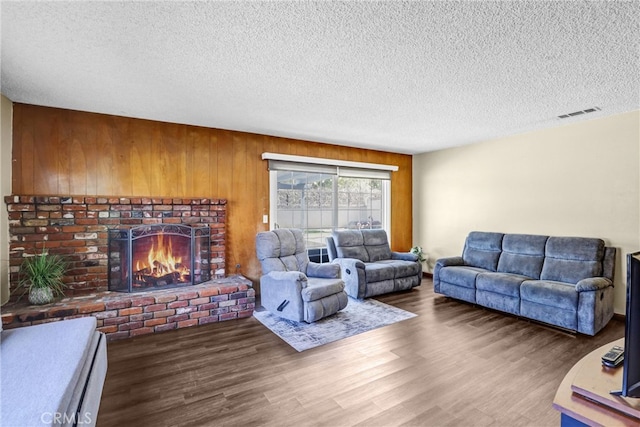
[[42,306],[29,305],[25,300],[26,297],[2,307],[4,329],[93,316],[98,330],[111,341],[251,317],[255,290],[249,279],[230,276],[149,292],[96,292]]

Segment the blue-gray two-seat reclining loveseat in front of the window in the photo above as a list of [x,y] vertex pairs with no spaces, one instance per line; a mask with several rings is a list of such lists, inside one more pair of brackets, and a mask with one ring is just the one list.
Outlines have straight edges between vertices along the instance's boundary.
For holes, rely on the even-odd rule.
[[340,265],[345,290],[368,298],[420,286],[422,264],[412,253],[393,252],[384,230],[339,230],[327,237],[329,260]]

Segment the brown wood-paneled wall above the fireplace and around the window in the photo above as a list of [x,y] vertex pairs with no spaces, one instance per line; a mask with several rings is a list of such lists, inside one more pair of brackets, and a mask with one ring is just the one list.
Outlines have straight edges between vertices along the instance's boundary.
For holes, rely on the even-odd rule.
[[206,197],[228,201],[227,274],[260,277],[255,235],[268,229],[263,152],[397,165],[391,240],[412,246],[412,157],[104,114],[15,104],[12,191],[17,195]]

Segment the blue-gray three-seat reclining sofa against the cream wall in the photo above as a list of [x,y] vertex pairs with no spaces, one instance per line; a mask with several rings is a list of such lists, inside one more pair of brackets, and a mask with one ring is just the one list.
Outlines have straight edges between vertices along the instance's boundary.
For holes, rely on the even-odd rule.
[[474,231],[441,258],[437,293],[595,335],[613,317],[615,248],[584,237]]

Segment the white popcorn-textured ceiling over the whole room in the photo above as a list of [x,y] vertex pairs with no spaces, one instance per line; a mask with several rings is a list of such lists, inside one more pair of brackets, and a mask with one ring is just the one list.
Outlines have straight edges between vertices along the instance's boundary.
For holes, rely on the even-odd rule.
[[14,102],[401,153],[640,108],[637,0],[0,8]]

